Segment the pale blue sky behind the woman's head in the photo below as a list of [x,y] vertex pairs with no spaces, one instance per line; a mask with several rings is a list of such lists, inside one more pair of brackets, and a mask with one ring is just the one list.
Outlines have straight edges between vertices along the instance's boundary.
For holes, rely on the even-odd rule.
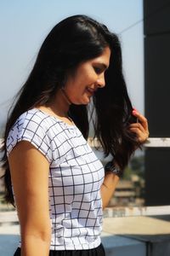
[[144,113],[142,0],[1,0],[0,125],[48,32],[65,17],[78,14],[91,16],[119,35],[127,90],[133,106]]

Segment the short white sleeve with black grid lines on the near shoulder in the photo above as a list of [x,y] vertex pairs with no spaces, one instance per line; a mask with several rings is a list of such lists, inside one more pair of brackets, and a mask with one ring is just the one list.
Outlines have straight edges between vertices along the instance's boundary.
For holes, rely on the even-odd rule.
[[49,163],[52,162],[51,140],[44,119],[29,113],[22,114],[8,133],[7,155],[21,141],[30,142],[48,159]]

